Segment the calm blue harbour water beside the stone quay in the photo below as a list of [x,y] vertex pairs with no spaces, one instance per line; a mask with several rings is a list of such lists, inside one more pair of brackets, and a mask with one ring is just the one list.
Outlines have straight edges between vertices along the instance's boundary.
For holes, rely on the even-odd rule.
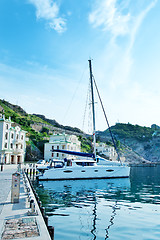
[[55,240],[160,240],[160,166],[129,179],[39,182]]

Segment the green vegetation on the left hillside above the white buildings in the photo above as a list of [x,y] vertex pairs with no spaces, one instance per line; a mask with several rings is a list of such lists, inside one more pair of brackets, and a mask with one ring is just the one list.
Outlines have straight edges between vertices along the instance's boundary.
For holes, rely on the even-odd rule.
[[[5,115],[5,118],[8,119],[11,117],[11,120],[20,127],[27,131],[27,137],[29,137],[29,141],[27,142],[27,147],[31,152],[31,149],[35,152],[36,148],[40,150],[43,155],[44,151],[44,143],[49,140],[50,137],[50,129],[47,126],[51,127],[59,127],[60,129],[69,130],[71,132],[82,133],[78,128],[72,128],[69,126],[62,126],[58,124],[55,120],[47,119],[43,115],[36,115],[36,114],[27,114],[20,106],[13,105],[5,100],[0,99],[0,106],[4,109],[2,113]],[[35,131],[32,127],[32,124],[41,124],[42,130]],[[84,137],[80,137],[82,140],[82,150],[85,152],[90,151],[91,143]],[[31,154],[27,158],[31,158]],[[34,159],[34,157],[33,157]]]

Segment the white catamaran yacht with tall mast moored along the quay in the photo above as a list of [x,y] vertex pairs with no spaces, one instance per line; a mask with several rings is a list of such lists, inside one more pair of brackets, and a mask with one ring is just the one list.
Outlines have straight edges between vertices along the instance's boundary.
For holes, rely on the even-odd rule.
[[[117,152],[119,162],[110,162],[105,159],[100,159],[96,156],[96,130],[95,130],[95,109],[94,109],[94,93],[93,93],[93,83],[95,84],[96,90],[97,85],[95,79],[92,75],[91,60],[89,60],[89,70],[90,70],[90,86],[91,86],[91,97],[92,97],[92,115],[93,115],[93,153],[83,153],[83,152],[73,152],[68,150],[53,149],[53,152],[59,152],[64,154],[69,154],[79,157],[79,159],[63,159],[55,160],[53,159],[50,166],[47,168],[39,168],[39,174],[37,175],[38,180],[76,180],[76,179],[101,179],[101,178],[128,178],[130,175],[130,167],[123,164],[120,160],[120,156]],[[102,101],[100,98],[102,105]],[[104,111],[103,105],[102,109]],[[107,124],[108,120],[104,112]],[[109,124],[108,124],[109,126]],[[110,127],[109,127],[110,130]],[[116,149],[116,144],[112,136],[111,130],[110,134]],[[117,150],[117,149],[116,149]],[[103,164],[102,164],[103,163]]]

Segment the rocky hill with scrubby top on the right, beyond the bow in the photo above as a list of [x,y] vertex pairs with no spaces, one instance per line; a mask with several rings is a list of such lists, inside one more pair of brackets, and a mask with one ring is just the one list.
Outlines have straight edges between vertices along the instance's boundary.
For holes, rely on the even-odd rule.
[[[121,153],[130,163],[160,162],[160,129],[119,123],[111,127],[116,141],[121,143]],[[109,131],[98,132],[99,140],[111,141]]]

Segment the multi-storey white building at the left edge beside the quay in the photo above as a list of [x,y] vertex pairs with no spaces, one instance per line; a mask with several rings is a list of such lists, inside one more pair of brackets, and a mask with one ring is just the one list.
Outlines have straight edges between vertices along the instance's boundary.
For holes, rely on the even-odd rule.
[[24,162],[26,131],[13,127],[11,118],[0,114],[0,163],[18,164]]

